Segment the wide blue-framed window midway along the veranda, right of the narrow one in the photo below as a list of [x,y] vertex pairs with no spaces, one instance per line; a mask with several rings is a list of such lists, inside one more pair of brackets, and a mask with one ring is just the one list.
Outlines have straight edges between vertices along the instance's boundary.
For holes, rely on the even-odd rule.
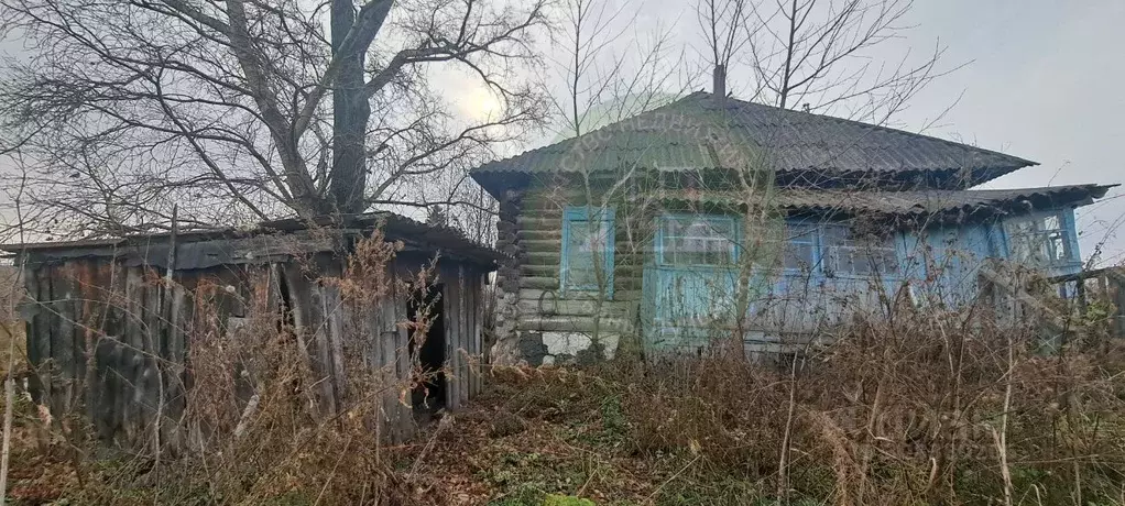
[[899,273],[894,244],[889,238],[856,236],[844,226],[829,225],[821,233],[825,271],[840,275]]

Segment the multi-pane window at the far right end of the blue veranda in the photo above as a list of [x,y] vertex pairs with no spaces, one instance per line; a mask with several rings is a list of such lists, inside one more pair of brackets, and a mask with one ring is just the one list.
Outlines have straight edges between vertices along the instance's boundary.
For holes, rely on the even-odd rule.
[[1078,255],[1066,241],[1064,223],[1059,213],[1007,220],[1004,229],[1008,235],[1008,256],[1037,265],[1076,260]]

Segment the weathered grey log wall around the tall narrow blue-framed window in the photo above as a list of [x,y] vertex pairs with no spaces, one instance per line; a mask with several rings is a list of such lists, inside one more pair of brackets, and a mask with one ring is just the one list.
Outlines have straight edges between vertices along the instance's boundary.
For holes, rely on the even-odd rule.
[[510,260],[497,273],[494,358],[536,365],[598,360],[612,356],[622,338],[637,337],[651,235],[642,216],[618,209],[611,295],[561,290],[564,210],[585,202],[580,191],[558,186],[512,191],[502,199],[497,249]]

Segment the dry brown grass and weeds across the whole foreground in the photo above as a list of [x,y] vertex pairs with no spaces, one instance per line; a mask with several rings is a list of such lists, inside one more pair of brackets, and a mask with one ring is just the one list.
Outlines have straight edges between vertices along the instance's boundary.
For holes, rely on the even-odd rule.
[[[336,281],[350,304],[386,295],[389,281],[368,283],[362,272],[380,275],[393,249],[369,246],[360,251],[371,257]],[[206,293],[196,297],[206,311]],[[50,419],[21,396],[10,496],[25,504],[583,504],[574,496],[619,505],[1125,505],[1125,347],[1099,337],[1101,322],[1077,322],[1081,338],[1055,354],[1038,352],[1034,328],[998,327],[983,313],[903,309],[855,323],[791,367],[716,353],[495,368],[466,410],[388,445],[372,430],[381,395],[408,391],[425,371],[385,383],[350,368],[343,408],[325,416],[321,379],[292,328],[263,309],[261,293],[251,307],[236,338],[219,337],[215,318],[192,342],[190,397],[174,424],[187,444],[160,459],[98,446],[81,414]],[[412,326],[424,334],[426,323]]]

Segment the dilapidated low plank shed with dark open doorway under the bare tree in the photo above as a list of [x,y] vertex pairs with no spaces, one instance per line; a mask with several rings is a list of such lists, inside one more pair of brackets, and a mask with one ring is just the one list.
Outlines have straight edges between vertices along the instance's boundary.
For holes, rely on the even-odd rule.
[[[105,442],[145,444],[153,427],[162,441],[189,437],[179,424],[199,380],[192,347],[237,340],[262,315],[267,333],[291,329],[325,418],[348,409],[345,371],[357,369],[386,385],[377,428],[388,440],[480,390],[483,293],[498,257],[451,228],[367,214],[0,249],[24,266],[33,397],[55,417],[84,412]],[[410,322],[423,306],[418,338]],[[420,367],[435,378],[425,389],[411,383]],[[253,385],[234,381],[238,403],[253,403]]]

